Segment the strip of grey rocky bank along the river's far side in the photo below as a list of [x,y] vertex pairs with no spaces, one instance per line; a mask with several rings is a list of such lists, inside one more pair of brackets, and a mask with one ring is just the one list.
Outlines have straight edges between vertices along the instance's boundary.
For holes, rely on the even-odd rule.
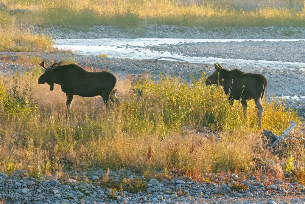
[[305,28],[299,27],[178,27],[174,25],[147,25],[138,27],[94,26],[63,28],[47,25],[23,25],[19,28],[33,34],[46,34],[54,39],[100,39],[100,38],[201,38],[201,39],[305,39]]

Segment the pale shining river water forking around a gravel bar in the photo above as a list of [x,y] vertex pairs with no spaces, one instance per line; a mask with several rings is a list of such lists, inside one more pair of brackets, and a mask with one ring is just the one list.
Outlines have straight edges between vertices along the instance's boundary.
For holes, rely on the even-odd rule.
[[[177,44],[177,43],[196,43],[196,42],[242,42],[242,41],[299,41],[304,39],[58,39],[56,46],[59,49],[71,49],[78,54],[100,55],[107,54],[108,57],[122,58],[156,58],[161,56],[175,57],[188,62],[213,64],[215,61],[224,65],[243,64],[264,68],[276,69],[305,69],[305,63],[300,62],[282,62],[282,61],[265,61],[265,60],[247,60],[247,59],[224,59],[217,57],[189,57],[181,54],[172,54],[167,51],[153,51],[133,46],[160,45],[160,44]],[[166,59],[164,59],[166,60]],[[169,59],[170,60],[170,59]]]

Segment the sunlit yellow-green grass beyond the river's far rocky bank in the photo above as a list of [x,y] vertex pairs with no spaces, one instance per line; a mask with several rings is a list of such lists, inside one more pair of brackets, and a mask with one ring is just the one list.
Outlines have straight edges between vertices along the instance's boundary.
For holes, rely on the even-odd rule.
[[[253,10],[243,10],[244,3],[204,1],[183,4],[167,0],[64,0],[64,1],[5,1],[10,8],[28,9],[15,14],[15,24],[49,25],[146,25],[172,24],[178,26],[229,27],[229,26],[300,26],[304,27],[305,10],[302,3],[291,6],[264,4]],[[213,2],[215,4],[213,4]],[[241,5],[242,7],[236,6]],[[257,3],[259,4],[259,3]],[[284,6],[283,6],[284,5]],[[0,13],[1,15],[1,13]],[[3,15],[3,13],[2,13]]]

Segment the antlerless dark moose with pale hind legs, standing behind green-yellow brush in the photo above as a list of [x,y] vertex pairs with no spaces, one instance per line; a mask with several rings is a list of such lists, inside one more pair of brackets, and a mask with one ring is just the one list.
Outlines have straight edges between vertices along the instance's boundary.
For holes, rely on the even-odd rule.
[[267,87],[266,78],[262,74],[244,73],[238,69],[229,71],[218,62],[214,65],[216,71],[206,79],[206,85],[223,86],[224,93],[229,95],[229,103],[233,105],[234,99],[239,100],[245,115],[247,115],[247,100],[254,99],[261,128],[264,110],[261,103]]

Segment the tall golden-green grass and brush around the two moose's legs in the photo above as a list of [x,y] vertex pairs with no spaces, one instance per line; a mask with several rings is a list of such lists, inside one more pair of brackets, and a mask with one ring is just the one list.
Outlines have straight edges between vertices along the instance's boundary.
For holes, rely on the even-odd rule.
[[[54,91],[38,85],[39,73],[2,76],[0,171],[47,173],[78,169],[81,162],[139,172],[235,171],[251,169],[253,158],[272,159],[260,146],[254,103],[246,119],[242,107],[230,107],[221,88],[206,87],[204,77],[190,84],[167,77],[135,85],[120,80],[120,106],[107,109],[100,98],[76,96],[66,122],[65,94],[57,85]],[[139,102],[131,87],[143,88]],[[288,120],[298,121],[279,102],[263,106],[265,129],[281,133]]]

